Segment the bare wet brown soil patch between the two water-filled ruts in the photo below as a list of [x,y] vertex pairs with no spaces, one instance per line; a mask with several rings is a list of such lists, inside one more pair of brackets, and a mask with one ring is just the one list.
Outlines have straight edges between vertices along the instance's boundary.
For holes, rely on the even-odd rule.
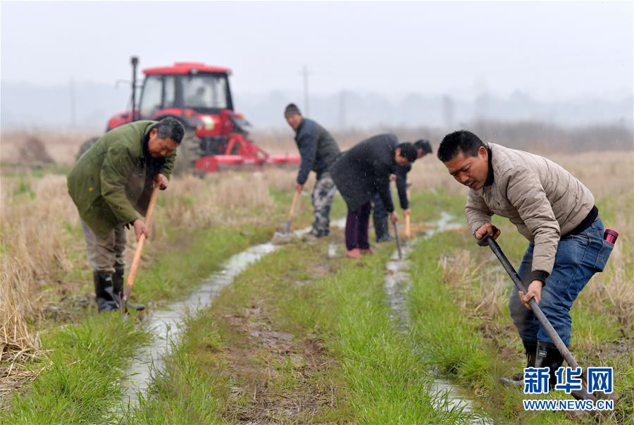
[[335,361],[321,340],[297,341],[275,328],[261,307],[243,316],[221,318],[240,342],[223,351],[230,369],[230,400],[225,417],[247,424],[302,424],[334,407],[336,388],[315,385]]

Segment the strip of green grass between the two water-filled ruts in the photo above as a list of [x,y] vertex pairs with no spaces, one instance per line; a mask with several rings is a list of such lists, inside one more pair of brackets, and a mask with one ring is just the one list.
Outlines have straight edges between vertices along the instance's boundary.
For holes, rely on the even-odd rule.
[[[414,202],[433,201],[421,196]],[[438,203],[454,209],[458,205],[456,198]],[[413,211],[421,219],[437,212]],[[214,420],[235,421],[237,410],[253,407],[251,396],[229,398],[232,386],[251,388],[254,384],[249,379],[259,378],[256,372],[236,378],[228,366],[228,353],[247,341],[228,326],[226,318],[255,306],[262,309],[272,329],[292,333],[297,344],[320,341],[332,359],[307,384],[330,389],[336,403],[306,420],[438,424],[464,420],[467,414],[449,411],[446,405],[437,407],[446,400],[430,394],[429,365],[417,354],[411,336],[400,333],[390,321],[383,284],[393,245],[382,245],[378,255],[363,261],[326,259],[327,248],[325,241],[314,246],[288,245],[238,276],[211,309],[189,323],[184,340],[166,360],[166,371],[154,377],[151,392],[128,422],[165,423],[173,414],[182,421],[199,421],[204,405],[209,405],[206,414]],[[316,265],[326,270],[318,271]],[[205,335],[213,335],[211,345],[200,343]],[[266,378],[268,388],[282,393],[302,391],[297,365],[290,357],[271,358],[266,350],[254,350],[242,362],[262,374],[273,370]]]

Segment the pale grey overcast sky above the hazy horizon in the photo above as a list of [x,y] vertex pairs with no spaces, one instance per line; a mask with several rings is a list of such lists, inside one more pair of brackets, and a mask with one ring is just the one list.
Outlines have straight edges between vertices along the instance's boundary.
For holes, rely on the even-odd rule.
[[143,67],[232,68],[233,90],[538,99],[633,92],[633,2],[8,2],[1,79],[113,84]]

